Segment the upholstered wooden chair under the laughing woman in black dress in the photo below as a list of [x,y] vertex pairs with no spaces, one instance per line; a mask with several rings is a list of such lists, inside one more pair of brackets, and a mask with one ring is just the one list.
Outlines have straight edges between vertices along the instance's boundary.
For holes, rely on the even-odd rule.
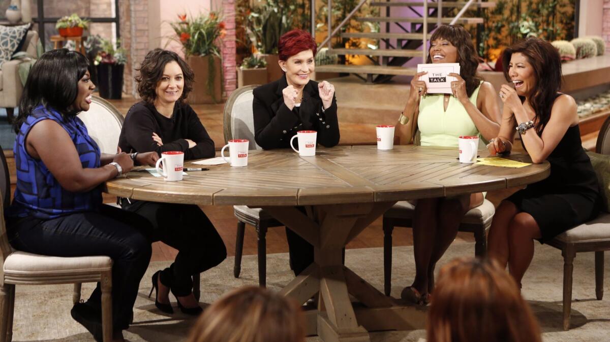
[[547,241],[549,246],[561,250],[564,257],[563,328],[570,329],[572,310],[572,271],[574,258],[579,252],[595,252],[595,298],[604,295],[604,251],[610,250],[610,117],[601,126],[595,153],[587,152],[597,173],[602,190],[603,206],[594,220],[583,223]]

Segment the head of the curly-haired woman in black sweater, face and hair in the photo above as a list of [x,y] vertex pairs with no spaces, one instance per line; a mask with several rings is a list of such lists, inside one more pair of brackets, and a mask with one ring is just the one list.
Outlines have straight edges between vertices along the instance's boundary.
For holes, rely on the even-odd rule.
[[148,103],[182,101],[193,90],[195,73],[176,52],[149,51],[139,71],[138,94]]

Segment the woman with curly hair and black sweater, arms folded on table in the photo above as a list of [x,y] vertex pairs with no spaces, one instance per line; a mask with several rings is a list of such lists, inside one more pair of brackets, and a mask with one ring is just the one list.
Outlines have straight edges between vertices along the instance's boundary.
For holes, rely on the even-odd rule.
[[[162,49],[148,52],[140,75],[135,78],[143,101],[131,107],[119,138],[129,153],[182,151],[184,159],[210,158],[214,142],[197,114],[184,99],[192,90],[193,71],[177,54]],[[147,218],[156,240],[178,250],[170,267],[152,276],[157,290],[155,305],[173,313],[169,292],[184,313],[198,315],[202,309],[193,296],[192,274],[201,273],[226,258],[223,240],[196,205],[121,200],[121,206]],[[199,284],[195,284],[199,286]],[[152,290],[151,290],[152,293]]]

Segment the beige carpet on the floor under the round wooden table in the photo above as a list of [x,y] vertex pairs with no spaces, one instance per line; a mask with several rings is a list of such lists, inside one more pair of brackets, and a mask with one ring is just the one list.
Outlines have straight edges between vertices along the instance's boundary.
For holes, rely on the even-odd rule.
[[[471,243],[459,243],[450,247],[440,264],[457,256],[472,255]],[[414,263],[411,247],[394,248],[392,295],[398,296],[401,288],[412,281]],[[233,258],[202,274],[201,302],[210,303],[228,290],[240,285],[257,284],[256,256],[245,256],[242,275],[233,277]],[[271,254],[267,257],[267,284],[277,290],[292,279],[287,254]],[[606,265],[610,256],[606,253]],[[346,264],[375,287],[383,282],[382,249],[368,248],[348,250]],[[184,341],[194,320],[182,313],[173,316],[161,314],[154,302],[148,299],[150,277],[167,263],[151,263],[140,286],[135,304],[134,325],[127,330],[129,341]],[[608,267],[606,267],[608,269]],[[603,301],[595,300],[594,254],[577,254],[574,267],[572,304],[572,330],[564,332],[562,317],[561,253],[549,246],[536,246],[536,256],[523,281],[523,295],[533,307],[544,331],[545,341],[608,341],[610,340],[610,300],[608,293]],[[610,276],[606,272],[605,288],[608,291]],[[88,296],[92,285],[84,285]],[[18,286],[16,287],[15,326],[13,341],[93,341],[79,324],[70,318],[71,285]],[[173,301],[175,299],[171,298]],[[175,307],[174,309],[178,309]],[[372,341],[417,341],[425,337],[424,330],[412,332],[375,332]],[[317,337],[307,342],[320,341]]]

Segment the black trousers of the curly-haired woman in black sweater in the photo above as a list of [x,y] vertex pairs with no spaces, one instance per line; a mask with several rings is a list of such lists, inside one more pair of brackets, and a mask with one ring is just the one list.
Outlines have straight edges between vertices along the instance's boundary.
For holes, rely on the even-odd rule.
[[121,206],[151,222],[153,241],[162,241],[178,250],[176,260],[160,275],[163,285],[171,287],[174,295],[191,293],[193,274],[209,270],[226,259],[223,240],[198,206],[125,198]]

